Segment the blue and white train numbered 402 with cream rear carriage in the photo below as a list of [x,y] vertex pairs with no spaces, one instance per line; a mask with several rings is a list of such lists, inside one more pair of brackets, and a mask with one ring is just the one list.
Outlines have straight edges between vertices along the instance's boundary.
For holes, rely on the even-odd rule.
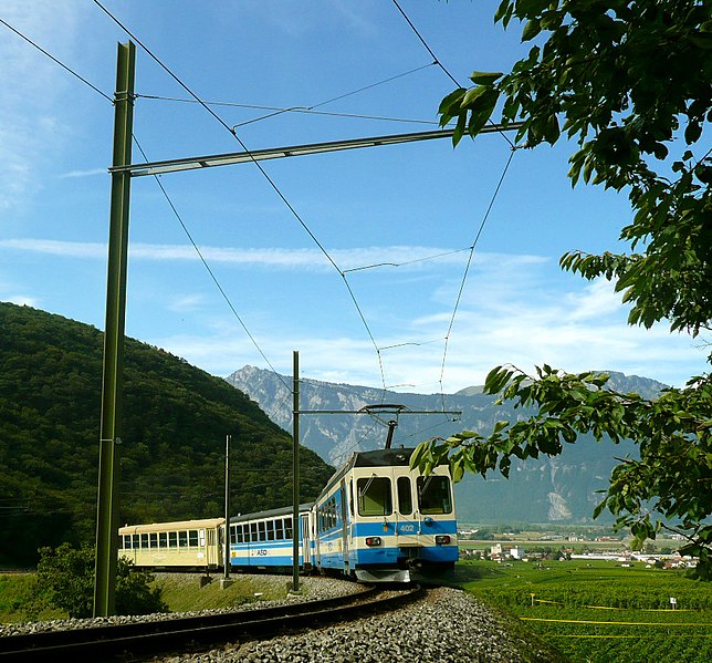
[[[425,477],[409,467],[413,450],[357,452],[314,503],[301,505],[296,536],[302,572],[408,582],[453,568],[458,529],[448,465]],[[292,568],[292,515],[293,508],[285,507],[231,518],[232,569]],[[178,530],[176,536],[163,533],[171,529]],[[222,566],[223,519],[126,527],[119,535],[119,555],[139,567],[208,571]]]

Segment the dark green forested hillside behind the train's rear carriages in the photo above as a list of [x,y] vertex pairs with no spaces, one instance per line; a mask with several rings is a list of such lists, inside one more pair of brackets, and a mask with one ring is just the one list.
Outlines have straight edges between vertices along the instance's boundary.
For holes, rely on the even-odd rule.
[[[0,302],[0,563],[94,540],[102,355],[95,328]],[[122,524],[221,516],[228,434],[234,512],[290,504],[290,435],[223,380],[127,339]],[[333,468],[306,448],[301,464],[312,499]]]

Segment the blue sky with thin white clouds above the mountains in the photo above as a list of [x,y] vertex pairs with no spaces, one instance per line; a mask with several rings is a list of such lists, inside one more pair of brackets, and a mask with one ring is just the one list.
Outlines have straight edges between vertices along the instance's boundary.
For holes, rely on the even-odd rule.
[[[200,99],[224,102],[211,107],[250,149],[437,128],[454,87],[386,0],[102,3]],[[399,4],[462,84],[527,50],[493,23],[498,2]],[[128,35],[97,4],[4,0],[0,18],[113,96]],[[2,24],[0,58],[0,301],[103,329],[112,104]],[[149,160],[241,151],[199,104],[170,101],[189,95],[140,46],[136,92]],[[259,120],[294,106],[318,113]],[[263,162],[281,196],[253,164],[164,175],[178,216],[135,178],[126,333],[223,376],[289,374],[299,350],[304,377],[397,391],[544,362],[681,385],[704,367],[701,341],[628,327],[610,283],[558,268],[569,249],[621,249],[631,218],[625,195],[572,189],[573,149],[512,155],[489,134]],[[385,262],[397,266],[358,269]]]

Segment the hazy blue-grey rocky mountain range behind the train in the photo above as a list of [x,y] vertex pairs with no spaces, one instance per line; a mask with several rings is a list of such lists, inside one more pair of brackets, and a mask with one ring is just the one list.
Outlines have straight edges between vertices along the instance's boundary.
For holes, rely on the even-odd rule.
[[[624,393],[653,397],[666,386],[646,377],[606,372],[610,375],[609,386]],[[255,401],[275,424],[291,429],[291,376],[244,366],[227,381]],[[334,411],[356,413],[379,403],[405,406],[396,417],[392,446],[406,447],[463,429],[488,434],[495,422],[524,418],[527,414],[495,401],[496,397],[483,394],[479,386],[454,394],[416,394],[301,379],[300,411],[329,412],[300,415],[301,443],[336,466],[355,450],[383,447],[392,415],[332,414]],[[462,414],[448,415],[443,411]],[[594,508],[600,501],[598,491],[608,485],[616,458],[635,455],[636,445],[631,442],[616,445],[580,436],[575,444],[566,444],[559,456],[513,462],[509,479],[499,473],[488,475],[486,479],[468,475],[456,486],[458,518],[473,524],[591,522]],[[596,522],[611,520],[612,517],[601,514]]]

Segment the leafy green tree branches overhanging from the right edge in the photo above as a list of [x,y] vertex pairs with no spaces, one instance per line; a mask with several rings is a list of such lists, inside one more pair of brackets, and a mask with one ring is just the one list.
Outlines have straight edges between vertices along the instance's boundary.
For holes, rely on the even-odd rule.
[[[528,55],[507,74],[473,72],[470,89],[446,96],[441,125],[456,121],[453,143],[475,136],[502,102],[503,124],[521,121],[527,147],[576,144],[568,176],[575,186],[603,185],[628,195],[634,219],[620,239],[630,252],[572,251],[562,268],[606,278],[630,308],[629,323],[698,336],[712,312],[712,200],[709,134],[712,120],[712,20],[704,0],[503,0],[494,20],[516,19]],[[708,354],[708,364],[712,355]],[[629,527],[637,547],[660,527],[688,537],[681,552],[700,558],[712,578],[712,379],[652,400],[607,387],[604,374],[567,374],[548,365],[527,375],[493,369],[485,393],[533,412],[500,422],[491,434],[465,431],[423,443],[411,463],[426,472],[449,457],[452,476],[499,470],[512,457],[561,454],[593,433],[637,443],[638,459],[614,468],[595,510],[608,508]]]

